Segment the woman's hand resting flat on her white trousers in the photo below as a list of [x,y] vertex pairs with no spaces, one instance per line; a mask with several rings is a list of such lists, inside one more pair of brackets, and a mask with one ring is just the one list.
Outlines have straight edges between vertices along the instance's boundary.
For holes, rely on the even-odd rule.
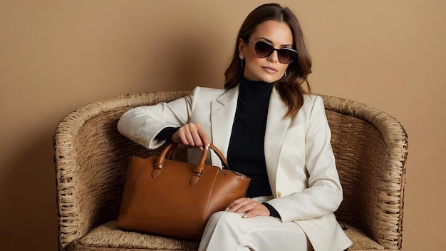
[[265,205],[251,198],[239,198],[228,205],[226,211],[244,213],[244,218],[255,216],[269,216],[269,210]]

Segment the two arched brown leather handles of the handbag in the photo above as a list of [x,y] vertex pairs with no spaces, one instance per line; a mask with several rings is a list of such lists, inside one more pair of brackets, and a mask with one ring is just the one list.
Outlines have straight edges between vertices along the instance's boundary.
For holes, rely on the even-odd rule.
[[[162,166],[164,165],[164,161],[166,159],[166,156],[172,156],[175,155],[175,150],[177,149],[177,143],[169,143],[166,145],[166,147],[162,150],[160,157],[158,157],[157,162],[155,163],[155,167],[152,171],[152,178],[157,177],[157,175],[160,175]],[[215,146],[214,144],[210,143],[209,148],[214,151],[214,153],[217,154],[219,159],[222,161],[222,167],[224,170],[229,170],[229,165],[227,163],[226,158],[224,158],[223,153]],[[193,185],[198,182],[199,178],[202,176],[202,172],[204,170],[204,162],[207,158],[207,151],[208,148],[204,148],[204,151],[202,153],[202,158],[199,160],[198,165],[195,167],[194,172],[192,173],[192,178],[190,178],[190,184]]]

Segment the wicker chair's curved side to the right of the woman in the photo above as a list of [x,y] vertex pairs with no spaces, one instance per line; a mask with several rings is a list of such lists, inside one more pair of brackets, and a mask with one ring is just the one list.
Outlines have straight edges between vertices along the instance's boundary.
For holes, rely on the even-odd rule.
[[408,136],[392,116],[363,103],[321,95],[343,186],[338,220],[400,249]]

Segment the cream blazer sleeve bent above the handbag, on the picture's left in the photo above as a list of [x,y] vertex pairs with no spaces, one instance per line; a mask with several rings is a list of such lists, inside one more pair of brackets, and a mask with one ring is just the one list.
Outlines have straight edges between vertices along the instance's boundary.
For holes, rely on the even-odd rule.
[[175,101],[132,108],[121,116],[118,130],[145,148],[158,148],[165,143],[165,140],[155,138],[163,128],[181,127],[189,123],[194,106],[192,97],[198,92],[197,87],[190,96]]

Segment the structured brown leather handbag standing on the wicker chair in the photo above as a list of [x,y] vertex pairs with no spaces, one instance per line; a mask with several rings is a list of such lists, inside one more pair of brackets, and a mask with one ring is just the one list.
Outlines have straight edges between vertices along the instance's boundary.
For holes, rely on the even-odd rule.
[[207,149],[198,165],[168,159],[176,148],[170,143],[159,157],[130,158],[118,227],[200,240],[214,212],[245,197],[250,179],[229,170],[214,145],[223,169],[204,164]]

